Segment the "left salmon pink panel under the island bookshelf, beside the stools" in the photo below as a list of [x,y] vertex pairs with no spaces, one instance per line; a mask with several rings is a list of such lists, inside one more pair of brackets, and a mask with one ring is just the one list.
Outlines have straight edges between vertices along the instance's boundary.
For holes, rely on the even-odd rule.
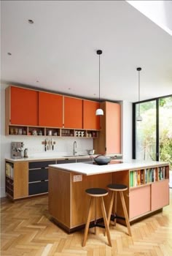
[[130,190],[129,219],[151,211],[151,185]]

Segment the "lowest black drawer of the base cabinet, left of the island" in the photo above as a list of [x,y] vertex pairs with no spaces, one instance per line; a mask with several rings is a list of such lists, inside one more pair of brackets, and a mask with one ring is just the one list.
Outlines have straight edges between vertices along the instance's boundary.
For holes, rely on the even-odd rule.
[[40,181],[28,184],[28,195],[36,195],[48,192],[48,181]]

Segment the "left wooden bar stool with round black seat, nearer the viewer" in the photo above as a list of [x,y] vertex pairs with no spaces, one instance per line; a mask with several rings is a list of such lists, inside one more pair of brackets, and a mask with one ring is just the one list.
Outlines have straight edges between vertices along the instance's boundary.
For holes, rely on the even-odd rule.
[[[109,246],[112,246],[111,243],[111,237],[110,237],[110,233],[109,233],[109,225],[107,222],[107,217],[106,217],[106,209],[104,206],[104,201],[103,201],[103,197],[108,195],[108,191],[106,189],[101,189],[101,188],[91,188],[91,189],[86,189],[85,192],[87,193],[87,195],[90,195],[90,206],[89,206],[89,210],[88,210],[88,214],[87,214],[87,223],[85,225],[85,233],[84,233],[84,238],[82,241],[82,246],[85,246],[86,244],[86,240],[87,240],[87,233],[90,227],[103,227],[106,229],[106,233],[107,233],[107,238],[108,238],[108,242],[109,242]],[[96,217],[95,217],[95,222],[93,225],[90,225],[90,218],[91,218],[91,213],[93,211],[93,205],[95,203],[95,198],[99,197],[101,199],[101,211],[103,214],[103,221],[104,221],[104,225],[98,224]],[[96,211],[96,207],[95,207],[95,211]]]

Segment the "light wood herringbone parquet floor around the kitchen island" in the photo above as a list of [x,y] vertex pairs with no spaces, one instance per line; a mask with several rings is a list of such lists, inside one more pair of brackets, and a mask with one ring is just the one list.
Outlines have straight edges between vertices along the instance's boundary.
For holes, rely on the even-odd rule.
[[1,200],[1,255],[172,256],[172,200],[162,213],[131,225],[132,237],[126,227],[111,226],[112,247],[99,228],[82,247],[83,230],[69,235],[51,222],[47,201],[47,196]]

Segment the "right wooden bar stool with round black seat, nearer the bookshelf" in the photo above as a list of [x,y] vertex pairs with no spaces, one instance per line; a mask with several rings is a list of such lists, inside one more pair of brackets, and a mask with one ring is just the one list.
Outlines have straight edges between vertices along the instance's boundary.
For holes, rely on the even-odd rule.
[[[110,220],[113,220],[114,225],[116,225],[116,219],[125,219],[126,225],[128,227],[128,234],[129,234],[129,236],[132,236],[131,230],[130,230],[130,222],[128,219],[128,211],[127,211],[127,208],[125,205],[125,199],[124,199],[124,194],[123,194],[123,191],[127,190],[128,187],[123,184],[109,184],[107,187],[112,192],[110,206],[109,206],[109,213],[108,213],[108,225],[110,223]],[[122,203],[122,208],[123,208],[125,218],[117,216],[117,214],[116,214],[117,213],[117,192],[120,193],[120,200]],[[115,199],[114,199],[114,195],[115,195]],[[113,203],[114,203],[114,215],[112,215]]]

